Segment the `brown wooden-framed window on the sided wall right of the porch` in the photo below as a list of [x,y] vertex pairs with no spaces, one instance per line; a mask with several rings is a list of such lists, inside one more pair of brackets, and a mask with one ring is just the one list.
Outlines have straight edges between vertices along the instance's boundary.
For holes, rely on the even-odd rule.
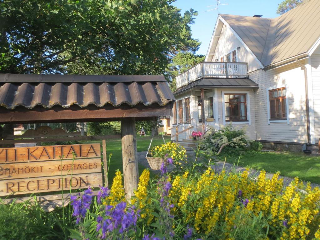
[[285,87],[269,90],[270,120],[287,119]]

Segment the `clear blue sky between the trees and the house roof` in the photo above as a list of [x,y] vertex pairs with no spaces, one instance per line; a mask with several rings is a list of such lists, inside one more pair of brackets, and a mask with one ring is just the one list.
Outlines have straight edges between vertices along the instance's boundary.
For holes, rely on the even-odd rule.
[[[262,15],[265,18],[275,18],[278,4],[283,0],[220,0],[219,13],[253,16]],[[210,43],[210,38],[216,23],[218,13],[217,10],[205,12],[216,7],[216,0],[177,0],[172,3],[181,9],[183,14],[185,11],[193,8],[198,11],[195,24],[191,26],[192,36],[202,43],[198,54],[206,54]],[[207,7],[210,6],[211,7]]]

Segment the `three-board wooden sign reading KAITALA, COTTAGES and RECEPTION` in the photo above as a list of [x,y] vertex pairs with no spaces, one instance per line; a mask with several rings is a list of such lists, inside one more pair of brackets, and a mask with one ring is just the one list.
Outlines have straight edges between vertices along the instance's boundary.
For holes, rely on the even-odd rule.
[[0,196],[99,185],[102,185],[99,143],[0,148]]

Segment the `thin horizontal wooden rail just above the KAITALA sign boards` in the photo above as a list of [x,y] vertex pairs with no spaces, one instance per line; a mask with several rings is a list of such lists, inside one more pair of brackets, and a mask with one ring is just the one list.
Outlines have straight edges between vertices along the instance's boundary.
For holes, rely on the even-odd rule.
[[29,142],[56,142],[56,141],[83,141],[83,140],[102,140],[102,139],[120,139],[121,135],[101,135],[101,136],[84,136],[84,137],[62,137],[62,138],[33,138],[33,139],[15,139],[0,140],[0,144],[15,144]]

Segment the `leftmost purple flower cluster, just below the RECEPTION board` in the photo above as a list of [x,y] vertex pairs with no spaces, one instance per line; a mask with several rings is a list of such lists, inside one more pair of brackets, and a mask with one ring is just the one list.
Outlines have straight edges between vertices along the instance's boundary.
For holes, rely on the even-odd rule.
[[86,189],[81,196],[81,194],[77,194],[75,196],[70,197],[70,204],[73,207],[72,216],[76,217],[76,224],[80,222],[82,218],[85,217],[87,209],[90,209],[90,205],[92,203],[92,190],[90,187]]

